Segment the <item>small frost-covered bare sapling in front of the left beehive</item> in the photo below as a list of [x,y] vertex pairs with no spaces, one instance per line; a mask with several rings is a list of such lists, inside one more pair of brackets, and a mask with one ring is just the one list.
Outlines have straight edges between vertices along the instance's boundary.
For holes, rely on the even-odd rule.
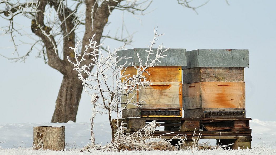
[[[142,74],[147,72],[149,67],[154,67],[154,65],[161,62],[161,59],[166,56],[164,55],[164,52],[166,52],[168,48],[162,49],[164,48],[162,45],[158,46],[156,51],[153,51],[156,37],[161,35],[158,35],[154,29],[153,40],[148,46],[149,49],[145,51],[147,53],[146,60],[140,59],[139,54],[136,55],[139,59],[139,67],[133,63],[127,64],[127,61],[124,65],[118,65],[118,62],[122,59],[128,59],[127,57],[119,58],[116,55],[116,52],[121,48],[116,49],[113,52],[110,52],[108,49],[107,55],[105,56],[102,50],[97,49],[99,46],[102,46],[102,44],[97,45],[97,41],[94,40],[95,34],[92,39],[89,39],[89,44],[85,46],[86,50],[83,55],[76,52],[78,46],[81,45],[80,42],[78,42],[75,48],[70,47],[74,50],[75,59],[71,60],[69,56],[67,59],[75,66],[74,70],[78,72],[78,76],[82,81],[84,90],[91,96],[91,104],[93,106],[91,118],[92,144],[94,144],[95,140],[93,134],[93,120],[96,114],[108,114],[110,127],[112,129],[112,142],[114,142],[115,127],[112,125],[112,113],[116,113],[117,118],[119,118],[121,110],[125,109],[128,104],[139,106],[138,104],[143,102],[133,102],[132,100],[135,99],[137,90],[140,89],[140,87],[137,86],[146,87],[152,84]],[[152,54],[155,55],[154,59],[150,59],[150,55]],[[90,55],[92,57],[91,60],[93,63],[88,65],[83,63],[83,61],[86,61],[84,58],[86,55]],[[137,70],[136,75],[124,75],[126,68],[130,65]],[[91,67],[95,67],[95,71],[90,71]],[[123,76],[121,76],[121,70],[123,70]],[[121,79],[123,79],[123,81]],[[121,96],[123,95],[129,95],[131,97],[128,97],[126,102],[122,103]],[[121,107],[121,104],[125,104],[125,106]]]

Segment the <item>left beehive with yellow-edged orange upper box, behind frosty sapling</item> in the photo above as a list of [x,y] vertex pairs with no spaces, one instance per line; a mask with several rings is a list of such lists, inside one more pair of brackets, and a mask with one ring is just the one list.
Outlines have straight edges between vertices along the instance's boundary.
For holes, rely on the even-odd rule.
[[[126,61],[133,62],[139,66],[137,53],[142,60],[147,59],[145,48],[134,48],[129,50],[118,51],[118,56],[132,57],[132,59],[124,59],[120,64]],[[156,54],[156,49],[153,53]],[[151,55],[155,57],[155,54]],[[132,102],[145,101],[140,104],[142,108],[128,104],[127,109],[122,111],[122,118],[128,117],[182,117],[182,72],[181,66],[186,66],[186,49],[169,49],[165,59],[160,59],[161,63],[155,67],[148,68],[148,75],[143,76],[150,80],[153,85],[143,87],[137,91],[137,97]],[[154,58],[152,58],[154,59]],[[136,74],[134,67],[126,68],[124,75],[133,76]],[[123,71],[122,71],[123,73]],[[121,80],[124,80],[123,78]],[[126,103],[127,98],[133,95],[121,97],[122,103]],[[124,104],[122,104],[124,106]]]

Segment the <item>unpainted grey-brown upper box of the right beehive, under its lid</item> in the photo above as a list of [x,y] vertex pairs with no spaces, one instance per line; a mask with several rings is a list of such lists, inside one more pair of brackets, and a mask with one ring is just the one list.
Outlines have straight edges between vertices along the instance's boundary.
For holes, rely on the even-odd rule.
[[183,70],[183,83],[243,82],[243,67],[195,67]]

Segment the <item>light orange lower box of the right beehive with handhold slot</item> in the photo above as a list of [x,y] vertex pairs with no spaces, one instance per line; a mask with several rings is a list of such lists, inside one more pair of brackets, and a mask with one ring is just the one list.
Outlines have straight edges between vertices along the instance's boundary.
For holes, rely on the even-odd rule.
[[245,108],[244,82],[198,82],[183,85],[184,110]]

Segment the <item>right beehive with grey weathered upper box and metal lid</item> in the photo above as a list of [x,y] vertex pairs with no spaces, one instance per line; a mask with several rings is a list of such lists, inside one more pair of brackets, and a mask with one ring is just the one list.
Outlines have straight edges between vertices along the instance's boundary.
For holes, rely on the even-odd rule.
[[245,117],[244,67],[248,50],[187,51],[184,117]]

